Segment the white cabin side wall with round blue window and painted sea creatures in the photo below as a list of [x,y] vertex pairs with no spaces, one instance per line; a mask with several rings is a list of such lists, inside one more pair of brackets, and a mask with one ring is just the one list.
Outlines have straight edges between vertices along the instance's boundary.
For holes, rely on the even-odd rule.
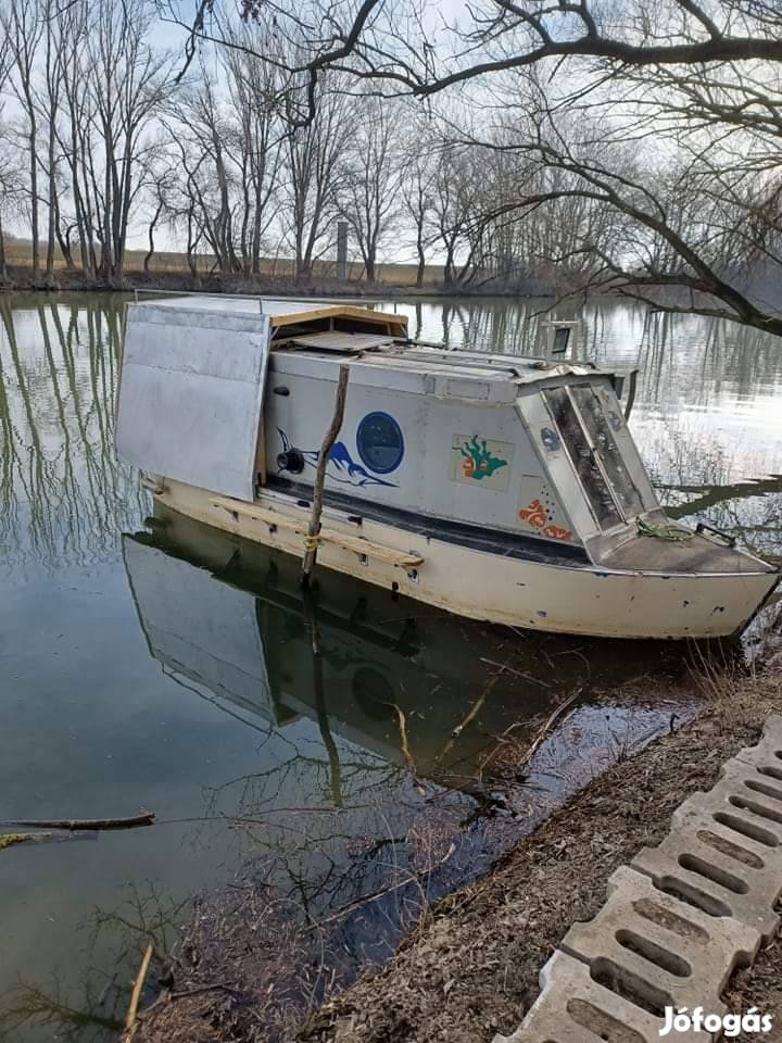
[[[266,440],[269,473],[312,487],[333,413],[338,367],[335,362],[316,367],[307,359],[318,376],[303,366],[292,374],[302,361],[273,360]],[[515,397],[507,403],[441,397],[434,381],[427,393],[425,376],[417,374],[421,390],[401,392],[354,381],[354,369],[358,367],[351,367],[344,418],[326,470],[327,490],[355,500],[356,512],[360,501],[367,501],[488,531],[579,542],[530,444]],[[329,373],[331,379],[324,379]],[[281,388],[283,395],[274,393]],[[299,453],[290,469],[283,455],[293,449]],[[541,505],[533,516],[540,525],[529,526],[525,512],[537,499]]]

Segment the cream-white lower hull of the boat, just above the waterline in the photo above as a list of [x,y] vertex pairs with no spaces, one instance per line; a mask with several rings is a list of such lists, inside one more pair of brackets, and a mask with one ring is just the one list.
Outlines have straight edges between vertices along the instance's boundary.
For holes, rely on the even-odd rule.
[[[250,504],[165,479],[155,499],[224,531],[304,554],[310,510],[292,498],[262,494]],[[357,527],[328,508],[323,524],[318,568],[462,616],[534,630],[635,639],[729,637],[747,625],[778,581],[777,573],[762,570],[749,555],[741,556],[746,563],[741,573],[611,570],[488,553],[367,518]]]

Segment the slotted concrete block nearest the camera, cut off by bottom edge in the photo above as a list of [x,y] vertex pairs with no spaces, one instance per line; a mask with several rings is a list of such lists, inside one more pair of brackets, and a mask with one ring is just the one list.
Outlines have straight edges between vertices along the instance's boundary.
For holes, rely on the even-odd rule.
[[[541,970],[541,994],[513,1035],[493,1043],[660,1043],[660,1018],[594,981],[581,960],[556,952]],[[677,1043],[711,1043],[705,1031],[677,1032]]]

